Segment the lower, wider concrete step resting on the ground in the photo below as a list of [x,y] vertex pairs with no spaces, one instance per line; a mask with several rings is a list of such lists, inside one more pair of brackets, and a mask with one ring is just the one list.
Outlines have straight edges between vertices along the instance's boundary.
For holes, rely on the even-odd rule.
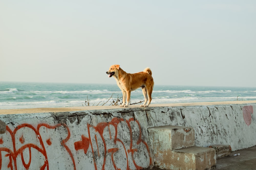
[[188,147],[162,154],[155,160],[155,166],[167,170],[206,170],[216,167],[215,149]]

